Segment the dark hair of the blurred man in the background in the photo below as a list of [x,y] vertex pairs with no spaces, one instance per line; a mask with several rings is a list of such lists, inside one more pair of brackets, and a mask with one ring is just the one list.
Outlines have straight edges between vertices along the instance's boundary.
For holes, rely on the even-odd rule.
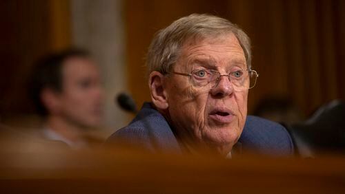
[[43,56],[34,64],[30,80],[28,81],[28,94],[38,114],[47,116],[48,111],[41,102],[41,91],[45,88],[61,92],[62,88],[62,66],[68,58],[88,58],[90,54],[82,49],[68,49]]

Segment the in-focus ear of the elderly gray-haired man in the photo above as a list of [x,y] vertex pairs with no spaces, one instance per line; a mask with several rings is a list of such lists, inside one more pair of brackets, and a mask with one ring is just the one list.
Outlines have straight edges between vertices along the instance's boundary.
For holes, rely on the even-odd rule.
[[151,72],[148,78],[148,87],[150,87],[150,94],[152,103],[158,109],[168,109],[168,96],[166,88],[164,87],[164,75],[160,72]]

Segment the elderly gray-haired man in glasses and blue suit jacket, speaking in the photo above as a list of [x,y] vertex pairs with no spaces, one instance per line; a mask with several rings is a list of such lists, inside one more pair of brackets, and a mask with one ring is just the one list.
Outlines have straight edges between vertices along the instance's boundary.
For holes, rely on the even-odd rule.
[[108,143],[222,155],[231,155],[236,144],[242,152],[291,155],[284,127],[247,116],[248,89],[258,77],[250,61],[250,40],[237,25],[206,14],[178,19],[148,49],[152,103]]

